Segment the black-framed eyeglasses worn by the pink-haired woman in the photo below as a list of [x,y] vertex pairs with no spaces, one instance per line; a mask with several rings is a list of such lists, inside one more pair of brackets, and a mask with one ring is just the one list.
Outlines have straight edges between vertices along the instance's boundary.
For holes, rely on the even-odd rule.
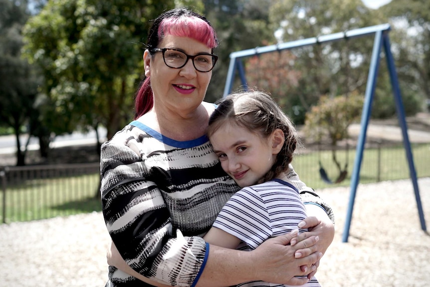
[[197,54],[197,55],[188,55],[182,51],[177,49],[169,49],[169,48],[153,48],[150,50],[151,53],[161,52],[163,53],[163,59],[166,66],[179,69],[185,66],[188,62],[188,59],[193,61],[193,65],[199,72],[209,72],[211,71],[218,59],[217,55],[214,54]]

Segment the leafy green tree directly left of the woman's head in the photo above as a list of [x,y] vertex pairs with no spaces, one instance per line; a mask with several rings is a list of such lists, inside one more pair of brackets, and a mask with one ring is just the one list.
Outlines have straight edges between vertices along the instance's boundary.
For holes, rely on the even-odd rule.
[[[24,30],[25,54],[42,70],[55,134],[103,125],[111,138],[133,117],[142,42],[172,0],[48,1]],[[61,120],[58,120],[61,119]]]

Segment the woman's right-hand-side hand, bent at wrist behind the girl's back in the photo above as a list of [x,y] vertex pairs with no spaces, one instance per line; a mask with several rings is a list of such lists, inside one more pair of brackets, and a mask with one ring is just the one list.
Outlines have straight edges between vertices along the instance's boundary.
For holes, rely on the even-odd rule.
[[[296,244],[297,241],[305,240],[308,237],[318,236],[320,240],[315,245],[316,251],[321,252],[324,255],[330,244],[333,242],[335,232],[334,225],[325,211],[319,206],[313,204],[306,205],[306,211],[312,216],[304,219],[298,226],[299,228],[307,228],[309,231],[300,234],[297,238],[294,238],[291,245]],[[307,255],[309,255],[309,251],[306,249],[297,250],[295,253],[296,258],[302,258]],[[316,268],[308,275],[309,279],[317,272],[319,260],[314,264],[314,266]],[[304,269],[305,267],[303,266],[302,268]],[[306,266],[306,268],[309,270],[311,267]]]

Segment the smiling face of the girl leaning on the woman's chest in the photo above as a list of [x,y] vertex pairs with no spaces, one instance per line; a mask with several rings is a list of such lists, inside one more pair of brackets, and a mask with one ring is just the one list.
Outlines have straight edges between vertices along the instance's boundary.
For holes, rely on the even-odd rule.
[[228,121],[210,137],[222,169],[241,188],[255,184],[270,170],[283,145],[282,139],[280,129],[262,138]]

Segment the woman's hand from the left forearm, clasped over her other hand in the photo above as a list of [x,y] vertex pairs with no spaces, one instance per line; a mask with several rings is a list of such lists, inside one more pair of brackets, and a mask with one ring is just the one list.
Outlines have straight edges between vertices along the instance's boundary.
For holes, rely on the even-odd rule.
[[[310,236],[304,240],[296,242],[294,246],[289,245],[290,241],[297,236],[297,230],[271,238],[263,242],[257,249],[251,251],[252,270],[257,274],[256,278],[265,282],[303,285],[308,282],[306,277],[296,278],[295,276],[307,276],[312,269],[302,271],[301,266],[312,266],[322,257],[322,253],[317,250],[319,238]],[[301,250],[302,257],[295,258],[294,254]],[[306,256],[307,254],[307,256]]]

